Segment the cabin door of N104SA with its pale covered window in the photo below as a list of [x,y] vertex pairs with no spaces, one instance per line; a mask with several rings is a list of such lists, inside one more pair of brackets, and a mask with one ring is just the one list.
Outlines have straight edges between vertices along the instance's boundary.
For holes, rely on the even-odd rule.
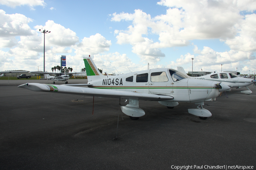
[[173,83],[167,69],[151,69],[149,72],[149,93],[172,94]]

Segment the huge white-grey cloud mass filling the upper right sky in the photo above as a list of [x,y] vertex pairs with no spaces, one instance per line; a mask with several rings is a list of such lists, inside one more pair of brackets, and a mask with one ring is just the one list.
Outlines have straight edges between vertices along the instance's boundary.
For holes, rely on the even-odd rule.
[[[256,10],[253,0],[161,0],[157,4],[168,7],[166,14],[152,18],[139,9],[131,14],[112,14],[113,22],[132,22],[126,30],[116,29],[114,33],[117,43],[131,44],[133,52],[142,61],[156,63],[165,56],[161,48],[188,46],[189,41],[194,39],[221,39],[235,50],[235,53],[230,51],[229,55],[243,52],[252,54],[255,51],[256,14],[243,15],[243,11],[248,13]],[[158,41],[149,39],[151,35],[157,35]]]

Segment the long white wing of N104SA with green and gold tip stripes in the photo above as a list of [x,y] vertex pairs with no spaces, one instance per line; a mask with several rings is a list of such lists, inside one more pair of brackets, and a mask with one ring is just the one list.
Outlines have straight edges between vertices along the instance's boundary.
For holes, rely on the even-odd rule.
[[157,95],[157,94],[147,94],[147,93],[138,93],[138,92],[126,92],[126,91],[119,91],[119,90],[72,87],[72,86],[61,86],[61,85],[53,86],[50,84],[40,84],[40,83],[26,83],[18,87],[26,88],[28,90],[32,90],[36,92],[52,92],[52,93],[64,93],[64,94],[88,95],[88,96],[96,96],[96,97],[112,97],[112,98],[121,98],[121,99],[137,99],[137,100],[150,100],[150,101],[174,99],[174,97],[169,95]]

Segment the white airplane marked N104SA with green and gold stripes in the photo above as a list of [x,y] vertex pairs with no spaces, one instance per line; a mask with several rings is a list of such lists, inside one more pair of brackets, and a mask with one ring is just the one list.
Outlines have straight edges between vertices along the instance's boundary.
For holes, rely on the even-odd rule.
[[[148,69],[116,76],[102,75],[90,57],[84,58],[88,84],[50,85],[26,83],[20,88],[37,92],[88,95],[129,99],[129,104],[122,106],[122,112],[137,120],[145,112],[139,108],[139,100],[158,101],[173,108],[180,102],[195,102],[198,109],[188,112],[206,119],[212,116],[203,109],[204,101],[215,101],[220,92],[230,89],[224,83],[190,78],[183,73],[167,68]],[[73,87],[87,85],[86,87]]]

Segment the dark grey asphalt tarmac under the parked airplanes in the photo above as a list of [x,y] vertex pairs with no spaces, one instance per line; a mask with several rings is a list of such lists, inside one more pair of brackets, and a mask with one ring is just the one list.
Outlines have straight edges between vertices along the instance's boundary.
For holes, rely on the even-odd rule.
[[[47,80],[0,80],[0,169],[174,169],[194,165],[256,166],[256,88],[233,88],[205,102],[212,117],[139,101],[131,120],[119,99],[33,92],[18,85]],[[69,84],[87,80],[69,80]],[[52,82],[51,82],[52,83]],[[56,84],[64,84],[57,82]],[[121,99],[121,105],[126,105]],[[92,115],[93,112],[93,115]],[[118,121],[119,120],[119,121]],[[118,123],[118,128],[117,128]],[[183,168],[185,169],[185,168]]]

